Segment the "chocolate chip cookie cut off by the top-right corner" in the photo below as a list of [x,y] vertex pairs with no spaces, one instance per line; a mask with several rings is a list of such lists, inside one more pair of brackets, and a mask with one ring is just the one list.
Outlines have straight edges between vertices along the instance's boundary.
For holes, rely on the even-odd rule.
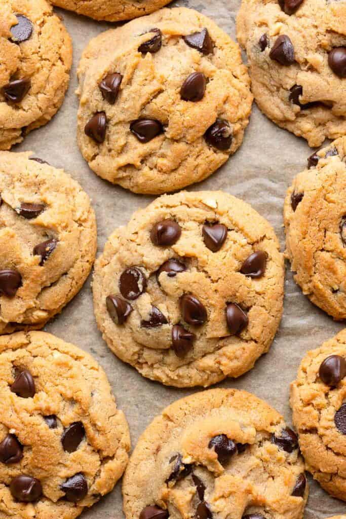
[[310,146],[346,134],[346,5],[242,0],[237,37],[260,110]]

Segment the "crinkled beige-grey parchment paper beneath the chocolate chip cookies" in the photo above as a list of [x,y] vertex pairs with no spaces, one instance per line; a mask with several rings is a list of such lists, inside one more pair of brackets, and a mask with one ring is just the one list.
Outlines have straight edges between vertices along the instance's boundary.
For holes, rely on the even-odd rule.
[[[171,5],[197,9],[235,38],[235,18],[240,0],[178,0]],[[33,151],[52,166],[64,168],[85,188],[92,199],[98,221],[99,254],[115,227],[125,225],[133,211],[145,207],[154,197],[134,195],[103,181],[82,159],[76,142],[76,68],[89,39],[112,24],[92,21],[62,9],[57,9],[57,12],[73,38],[74,64],[70,88],[60,112],[53,120],[29,134],[13,151]],[[273,225],[284,250],[283,199],[295,174],[306,167],[306,159],[311,153],[305,140],[276,127],[254,104],[250,125],[239,151],[209,179],[188,189],[223,189],[251,203]],[[316,348],[342,327],[342,324],[334,322],[302,295],[287,266],[284,315],[269,353],[257,361],[252,371],[239,379],[225,380],[218,387],[251,391],[278,409],[290,423],[289,383],[296,377],[301,358],[306,351]],[[164,387],[143,378],[134,368],[118,360],[108,350],[96,327],[90,279],[45,330],[88,351],[103,366],[118,406],[128,419],[132,446],[165,406],[201,390],[185,391]],[[309,483],[306,519],[322,519],[346,513],[345,503],[329,497],[310,476]],[[82,517],[122,519],[121,482]]]

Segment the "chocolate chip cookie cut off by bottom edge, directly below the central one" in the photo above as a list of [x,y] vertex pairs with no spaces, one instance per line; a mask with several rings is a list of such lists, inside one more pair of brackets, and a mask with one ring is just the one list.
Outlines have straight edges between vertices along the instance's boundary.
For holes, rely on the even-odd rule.
[[297,436],[275,409],[246,391],[212,389],[151,422],[122,493],[127,519],[301,519],[308,484]]

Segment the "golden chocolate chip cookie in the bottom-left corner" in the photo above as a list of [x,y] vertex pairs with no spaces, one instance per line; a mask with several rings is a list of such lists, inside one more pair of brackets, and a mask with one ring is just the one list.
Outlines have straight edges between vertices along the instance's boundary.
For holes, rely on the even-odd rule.
[[0,517],[74,519],[113,489],[130,436],[107,377],[44,332],[0,337]]

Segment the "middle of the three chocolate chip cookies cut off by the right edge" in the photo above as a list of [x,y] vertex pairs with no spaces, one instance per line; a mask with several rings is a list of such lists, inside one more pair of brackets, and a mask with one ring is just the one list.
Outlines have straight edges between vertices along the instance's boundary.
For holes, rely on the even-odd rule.
[[286,257],[310,301],[346,318],[346,138],[311,155],[287,191]]

